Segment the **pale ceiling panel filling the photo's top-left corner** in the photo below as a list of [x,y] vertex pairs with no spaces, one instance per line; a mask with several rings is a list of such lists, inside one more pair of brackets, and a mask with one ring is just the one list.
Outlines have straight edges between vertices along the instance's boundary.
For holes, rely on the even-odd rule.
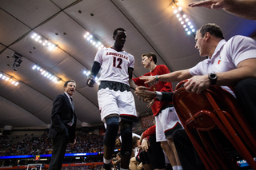
[[38,26],[60,10],[53,2],[38,0],[2,0],[0,6],[30,28]]

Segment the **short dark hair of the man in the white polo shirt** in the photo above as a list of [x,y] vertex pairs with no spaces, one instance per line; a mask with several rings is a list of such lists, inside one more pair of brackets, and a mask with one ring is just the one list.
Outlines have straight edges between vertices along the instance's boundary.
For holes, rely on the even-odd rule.
[[221,28],[214,23],[206,24],[205,26],[202,26],[198,31],[200,31],[202,37],[208,32],[215,38],[224,39]]

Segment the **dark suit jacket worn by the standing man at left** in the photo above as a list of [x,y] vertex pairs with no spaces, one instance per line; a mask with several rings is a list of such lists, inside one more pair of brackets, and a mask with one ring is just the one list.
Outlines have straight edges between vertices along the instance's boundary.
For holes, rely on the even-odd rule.
[[[69,123],[74,115],[74,124],[69,127]],[[50,131],[49,137],[54,137],[58,133],[64,132],[64,135],[69,136],[71,143],[74,142],[75,138],[75,128],[77,125],[77,116],[75,111],[72,109],[70,104],[70,99],[66,96],[65,93],[59,94],[54,99],[53,109],[51,110],[51,122],[50,122]]]

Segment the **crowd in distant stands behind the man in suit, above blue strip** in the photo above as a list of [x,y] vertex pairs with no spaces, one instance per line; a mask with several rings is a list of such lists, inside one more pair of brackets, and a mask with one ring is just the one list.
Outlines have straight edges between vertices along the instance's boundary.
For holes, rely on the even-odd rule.
[[[103,136],[81,132],[77,134],[77,142],[68,144],[66,153],[102,152]],[[43,155],[52,149],[51,139],[46,134],[42,136],[1,136],[0,156]]]

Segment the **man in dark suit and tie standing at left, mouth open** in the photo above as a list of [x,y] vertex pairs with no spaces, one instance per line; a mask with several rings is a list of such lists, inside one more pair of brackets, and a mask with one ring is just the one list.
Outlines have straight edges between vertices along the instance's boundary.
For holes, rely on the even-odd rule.
[[53,138],[53,152],[49,170],[62,168],[62,160],[66,152],[68,142],[75,144],[75,128],[77,117],[74,111],[74,94],[76,84],[70,80],[64,83],[64,93],[54,99],[51,111],[51,123],[49,137]]

